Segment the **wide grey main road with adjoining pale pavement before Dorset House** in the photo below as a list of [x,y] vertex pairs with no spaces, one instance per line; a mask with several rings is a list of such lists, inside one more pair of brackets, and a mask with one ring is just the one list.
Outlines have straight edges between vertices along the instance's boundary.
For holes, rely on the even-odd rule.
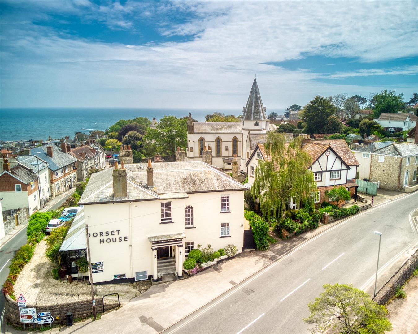
[[415,251],[418,230],[408,215],[416,209],[418,192],[398,194],[353,217],[280,240],[268,251],[246,251],[191,278],[151,286],[99,321],[50,332],[259,333],[277,326],[283,333],[308,332],[301,318],[324,283],[353,283],[373,293],[374,230],[383,233],[378,287]]

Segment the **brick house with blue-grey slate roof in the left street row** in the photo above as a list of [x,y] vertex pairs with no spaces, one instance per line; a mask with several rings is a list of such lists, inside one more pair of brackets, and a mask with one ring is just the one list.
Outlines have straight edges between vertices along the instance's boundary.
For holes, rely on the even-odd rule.
[[38,157],[49,164],[49,195],[51,197],[56,197],[76,186],[77,159],[68,153],[69,149],[70,145],[65,143],[62,143],[61,149],[55,145],[44,145],[31,149],[32,155],[38,153]]

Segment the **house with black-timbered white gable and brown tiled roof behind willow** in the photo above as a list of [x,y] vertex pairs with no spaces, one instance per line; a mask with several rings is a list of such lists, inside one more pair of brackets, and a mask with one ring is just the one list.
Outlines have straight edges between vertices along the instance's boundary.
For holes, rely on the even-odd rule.
[[[312,194],[314,202],[319,204],[328,201],[326,190],[344,186],[354,198],[357,197],[355,182],[359,162],[350,151],[343,139],[334,140],[304,140],[302,150],[311,156],[312,164],[308,169],[314,173],[317,192]],[[247,162],[248,183],[254,183],[255,169],[260,160],[270,160],[265,145],[258,144]],[[290,199],[290,207],[298,208],[298,203]]]

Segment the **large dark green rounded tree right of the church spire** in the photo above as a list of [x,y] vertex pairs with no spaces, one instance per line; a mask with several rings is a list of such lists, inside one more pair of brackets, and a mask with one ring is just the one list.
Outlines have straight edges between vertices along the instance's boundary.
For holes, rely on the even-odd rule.
[[302,120],[306,122],[306,132],[324,133],[324,127],[329,117],[334,115],[335,107],[324,96],[315,96],[303,110]]

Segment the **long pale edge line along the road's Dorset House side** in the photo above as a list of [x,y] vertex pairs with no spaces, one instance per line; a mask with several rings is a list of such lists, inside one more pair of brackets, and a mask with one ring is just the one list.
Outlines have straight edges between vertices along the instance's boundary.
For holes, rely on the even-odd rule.
[[[353,220],[353,219],[355,219],[355,218],[358,218],[359,216],[362,216],[362,215],[364,215],[364,214],[366,214],[366,213],[369,213],[369,212],[371,212],[371,211],[373,211],[373,210],[376,210],[376,209],[378,209],[378,208],[380,208],[380,207],[384,207],[384,206],[386,206],[386,205],[388,205],[388,204],[390,204],[390,203],[397,202],[398,200],[404,199],[404,198],[406,198],[406,197],[413,196],[413,195],[415,195],[415,194],[416,194],[416,193],[412,192],[412,193],[410,193],[410,194],[408,194],[408,195],[403,195],[403,196],[400,196],[400,197],[396,198],[395,200],[387,200],[387,201],[386,201],[386,202],[384,202],[384,203],[378,204],[378,205],[376,205],[376,206],[372,207],[371,209],[364,210],[362,213],[359,213],[358,215],[351,216],[350,218],[348,218],[348,219],[346,219],[346,220],[344,220],[344,221],[342,221],[342,222],[340,222],[340,223],[337,223],[335,226],[333,226],[333,227],[331,227],[331,228],[328,228],[327,230],[324,230],[323,232],[320,232],[318,235],[316,235],[316,236],[312,237],[311,239],[309,239],[309,240],[305,241],[305,242],[304,242],[304,243],[302,243],[301,245],[298,245],[295,249],[291,250],[291,251],[290,251],[290,253],[288,253],[288,254],[286,254],[286,253],[285,253],[285,254],[283,254],[283,255],[282,255],[282,257],[277,258],[274,262],[269,263],[269,264],[268,264],[268,265],[266,265],[264,268],[261,268],[259,273],[252,274],[252,275],[255,275],[255,276],[250,275],[248,278],[244,278],[241,282],[245,281],[246,279],[248,279],[248,281],[246,281],[245,283],[242,283],[242,285],[241,285],[241,286],[239,286],[239,287],[237,287],[237,286],[235,286],[236,288],[235,288],[235,287],[232,287],[231,289],[235,288],[235,289],[234,289],[234,290],[232,290],[232,291],[230,291],[231,289],[229,289],[229,290],[225,291],[224,293],[227,293],[225,296],[223,296],[223,297],[222,297],[222,298],[220,298],[219,300],[215,301],[215,302],[214,302],[214,304],[212,304],[211,306],[207,307],[206,309],[204,309],[204,310],[200,311],[198,314],[196,314],[195,316],[193,316],[193,317],[192,317],[192,318],[190,318],[189,320],[185,321],[183,324],[179,325],[178,327],[176,327],[176,328],[175,328],[175,329],[173,329],[172,331],[169,331],[167,334],[172,334],[172,333],[174,333],[174,332],[178,331],[178,329],[181,329],[182,327],[186,326],[186,325],[187,325],[187,324],[189,324],[191,321],[193,321],[193,320],[194,320],[194,319],[196,319],[197,317],[201,316],[202,314],[206,313],[206,311],[209,311],[210,309],[212,309],[212,307],[214,307],[214,306],[216,306],[217,304],[221,303],[222,301],[224,301],[225,299],[227,299],[227,298],[228,298],[229,296],[231,296],[232,294],[236,293],[237,291],[240,291],[240,289],[241,289],[241,288],[243,288],[243,287],[244,287],[244,286],[246,286],[247,284],[251,283],[252,281],[254,281],[255,279],[257,279],[259,276],[263,275],[263,273],[265,273],[266,271],[268,271],[268,270],[270,270],[271,268],[273,268],[273,267],[277,266],[277,265],[278,265],[281,261],[283,261],[285,258],[288,258],[288,256],[291,256],[293,253],[295,253],[295,252],[296,252],[296,251],[298,251],[299,249],[301,249],[301,248],[305,247],[306,245],[308,245],[308,244],[309,244],[309,243],[311,243],[312,241],[316,240],[317,238],[321,237],[322,235],[324,235],[324,234],[326,234],[326,233],[330,232],[331,230],[334,230],[335,228],[338,228],[338,227],[340,227],[340,226],[344,225],[345,223],[348,223],[350,220]],[[251,276],[252,276],[252,277],[251,277]],[[373,277],[374,277],[374,276],[373,276]],[[241,284],[241,282],[240,282],[240,283],[238,283],[237,285]],[[230,292],[228,293],[228,291],[230,291]],[[194,312],[198,311],[199,309],[202,309],[204,306],[206,306],[207,304],[209,304],[209,303],[213,302],[213,301],[214,301],[215,299],[217,299],[217,298],[219,298],[219,296],[215,297],[214,299],[212,299],[211,301],[207,302],[205,305],[203,305],[203,306],[199,307],[198,309],[196,309],[196,310],[194,310],[194,311],[190,312],[188,315],[186,315],[186,316],[184,316],[182,319],[180,319],[180,320],[176,321],[174,324],[172,324],[172,325],[171,325],[171,326],[169,326],[169,327],[175,326],[175,325],[176,325],[176,324],[178,324],[180,321],[184,320],[186,317],[190,316],[191,314],[193,314]],[[168,327],[168,328],[169,328],[169,327]],[[167,328],[167,329],[168,329],[168,328]],[[160,333],[161,333],[161,332],[163,332],[163,331],[166,331],[167,329],[163,329],[162,331],[160,331]]]

